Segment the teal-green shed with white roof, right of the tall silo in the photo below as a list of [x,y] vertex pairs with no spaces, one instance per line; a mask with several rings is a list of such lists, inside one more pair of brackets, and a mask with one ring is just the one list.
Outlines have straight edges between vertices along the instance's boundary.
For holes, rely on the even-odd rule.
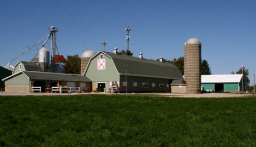
[[242,74],[202,75],[201,78],[201,86],[207,92],[239,92],[243,90]]

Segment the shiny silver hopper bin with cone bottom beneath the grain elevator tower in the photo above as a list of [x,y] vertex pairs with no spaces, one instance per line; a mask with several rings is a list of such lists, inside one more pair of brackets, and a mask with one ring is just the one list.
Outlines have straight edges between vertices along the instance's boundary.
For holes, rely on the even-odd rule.
[[38,63],[42,71],[46,70],[47,66],[49,65],[49,60],[50,60],[50,52],[47,50],[46,47],[43,46],[38,51]]

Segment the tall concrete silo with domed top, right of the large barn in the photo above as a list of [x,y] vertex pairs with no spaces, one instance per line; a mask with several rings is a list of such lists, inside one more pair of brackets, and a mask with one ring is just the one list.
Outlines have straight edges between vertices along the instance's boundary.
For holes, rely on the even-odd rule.
[[184,45],[184,76],[187,82],[187,93],[201,93],[201,42],[190,38]]

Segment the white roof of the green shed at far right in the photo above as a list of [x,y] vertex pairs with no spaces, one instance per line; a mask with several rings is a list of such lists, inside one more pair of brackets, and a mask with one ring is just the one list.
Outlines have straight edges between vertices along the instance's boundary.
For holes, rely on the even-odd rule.
[[234,75],[202,75],[201,83],[239,83],[242,79],[242,74]]

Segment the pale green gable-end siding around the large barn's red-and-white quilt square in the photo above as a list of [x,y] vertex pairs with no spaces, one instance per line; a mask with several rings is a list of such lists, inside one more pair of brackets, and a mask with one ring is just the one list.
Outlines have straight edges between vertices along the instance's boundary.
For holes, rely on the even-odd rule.
[[105,70],[98,70],[98,59],[100,59],[100,55],[95,56],[85,73],[85,76],[92,81],[119,81],[120,76],[116,71],[115,65],[113,61],[103,54],[103,59],[106,60],[106,69]]

